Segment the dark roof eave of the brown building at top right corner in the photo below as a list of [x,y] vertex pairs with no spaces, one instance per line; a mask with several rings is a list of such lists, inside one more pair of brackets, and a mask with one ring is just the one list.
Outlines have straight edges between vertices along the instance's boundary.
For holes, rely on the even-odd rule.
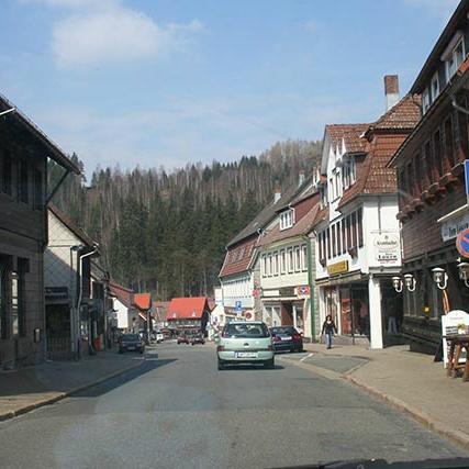
[[[448,45],[449,41],[451,41],[453,36],[455,35],[456,31],[459,29],[466,29],[467,27],[467,12],[469,10],[469,0],[461,0],[455,12],[453,13],[453,16],[449,19],[448,23],[446,24],[445,29],[443,30],[442,34],[438,37],[438,41],[434,45],[432,52],[429,53],[427,59],[425,60],[425,64],[423,65],[421,71],[417,75],[417,78],[415,79],[414,83],[411,87],[411,93],[418,93],[421,94],[425,87],[427,86],[437,63],[439,63],[440,56],[444,53],[446,46]],[[438,64],[439,65],[439,64]]]

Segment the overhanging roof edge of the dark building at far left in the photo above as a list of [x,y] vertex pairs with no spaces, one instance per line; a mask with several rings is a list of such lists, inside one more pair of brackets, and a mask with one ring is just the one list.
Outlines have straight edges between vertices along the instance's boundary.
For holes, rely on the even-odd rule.
[[10,100],[0,93],[0,112],[13,109],[12,112],[4,114],[4,119],[18,121],[25,130],[37,138],[49,152],[47,154],[54,161],[70,172],[80,175],[80,168],[65,154],[65,152],[54,143],[41,129],[36,126],[25,114],[23,114]]

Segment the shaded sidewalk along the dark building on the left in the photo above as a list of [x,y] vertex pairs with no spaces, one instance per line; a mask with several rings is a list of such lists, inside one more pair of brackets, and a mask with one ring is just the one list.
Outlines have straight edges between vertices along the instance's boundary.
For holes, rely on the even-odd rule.
[[0,421],[66,398],[144,364],[137,354],[100,351],[78,361],[47,361],[0,371]]

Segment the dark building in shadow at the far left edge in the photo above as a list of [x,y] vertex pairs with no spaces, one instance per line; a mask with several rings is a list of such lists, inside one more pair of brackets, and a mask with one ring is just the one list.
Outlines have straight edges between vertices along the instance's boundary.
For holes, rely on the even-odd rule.
[[48,158],[79,168],[10,101],[0,96],[0,368],[46,356],[44,249]]

